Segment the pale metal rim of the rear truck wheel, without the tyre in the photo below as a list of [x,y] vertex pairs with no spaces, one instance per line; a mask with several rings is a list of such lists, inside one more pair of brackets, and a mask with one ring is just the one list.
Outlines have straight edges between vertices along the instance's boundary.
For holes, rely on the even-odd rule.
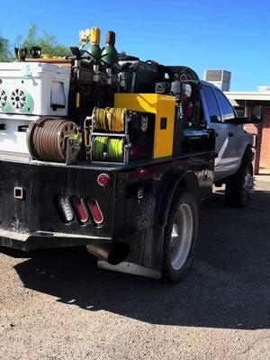
[[193,240],[193,211],[188,203],[178,210],[170,241],[170,261],[175,270],[180,270],[188,257]]

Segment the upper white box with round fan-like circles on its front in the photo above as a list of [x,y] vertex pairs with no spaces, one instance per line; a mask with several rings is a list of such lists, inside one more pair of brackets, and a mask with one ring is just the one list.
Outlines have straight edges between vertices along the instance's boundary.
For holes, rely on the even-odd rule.
[[0,63],[0,114],[66,116],[69,80],[67,67]]

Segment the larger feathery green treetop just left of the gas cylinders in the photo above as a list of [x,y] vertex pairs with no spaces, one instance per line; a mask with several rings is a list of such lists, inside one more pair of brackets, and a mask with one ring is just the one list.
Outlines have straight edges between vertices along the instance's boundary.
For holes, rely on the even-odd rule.
[[25,38],[19,35],[16,42],[20,42],[23,48],[28,49],[32,46],[40,46],[43,54],[52,54],[58,57],[71,55],[70,50],[66,46],[58,43],[56,36],[49,34],[46,30],[39,33],[38,27],[34,23],[31,24]]

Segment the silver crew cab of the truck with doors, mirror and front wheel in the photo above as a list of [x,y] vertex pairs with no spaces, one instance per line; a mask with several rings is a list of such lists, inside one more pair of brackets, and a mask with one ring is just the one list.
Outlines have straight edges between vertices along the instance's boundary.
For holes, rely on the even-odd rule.
[[238,118],[229,100],[218,87],[202,83],[202,102],[209,129],[215,130],[216,152],[214,184],[226,185],[230,205],[247,204],[254,185],[252,166],[253,138],[244,130],[244,123],[257,120]]

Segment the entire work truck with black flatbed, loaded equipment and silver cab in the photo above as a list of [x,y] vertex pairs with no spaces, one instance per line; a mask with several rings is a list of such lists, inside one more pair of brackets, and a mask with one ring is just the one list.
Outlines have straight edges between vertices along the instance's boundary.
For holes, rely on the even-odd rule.
[[213,182],[246,202],[248,120],[189,67],[72,49],[64,67],[0,64],[0,245],[85,245],[100,267],[177,282]]

